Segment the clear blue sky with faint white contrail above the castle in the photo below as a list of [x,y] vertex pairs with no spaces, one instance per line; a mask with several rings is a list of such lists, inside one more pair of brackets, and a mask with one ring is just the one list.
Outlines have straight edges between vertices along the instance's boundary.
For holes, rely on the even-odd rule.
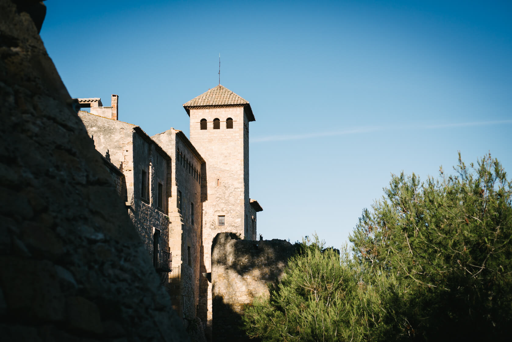
[[[391,173],[423,179],[489,150],[512,175],[509,1],[46,1],[41,30],[73,97],[188,135],[182,104],[247,99],[264,238],[339,247]],[[510,176],[509,176],[510,177]]]

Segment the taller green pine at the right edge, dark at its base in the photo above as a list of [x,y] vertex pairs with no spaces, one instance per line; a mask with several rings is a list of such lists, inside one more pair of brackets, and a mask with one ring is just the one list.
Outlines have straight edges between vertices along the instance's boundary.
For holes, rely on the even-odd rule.
[[512,189],[490,154],[455,175],[393,176],[350,237],[367,272],[396,277],[387,339],[507,339],[512,333]]

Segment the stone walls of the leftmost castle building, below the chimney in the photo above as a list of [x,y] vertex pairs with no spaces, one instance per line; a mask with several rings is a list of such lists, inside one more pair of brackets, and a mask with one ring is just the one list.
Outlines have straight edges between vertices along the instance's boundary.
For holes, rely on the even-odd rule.
[[[166,187],[169,156],[139,127],[111,118],[78,113],[98,152],[109,154],[111,162],[122,165],[126,184],[125,202],[148,255],[153,255],[154,233],[161,234],[158,248],[169,251],[169,218]],[[146,174],[146,194],[141,192],[142,171]],[[162,184],[162,207],[158,207],[158,184]]]

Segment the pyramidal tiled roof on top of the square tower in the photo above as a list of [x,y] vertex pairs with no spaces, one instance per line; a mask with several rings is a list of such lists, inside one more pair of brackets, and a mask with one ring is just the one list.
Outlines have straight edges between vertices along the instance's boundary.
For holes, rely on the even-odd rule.
[[222,107],[244,107],[247,112],[249,121],[255,121],[249,102],[240,95],[233,93],[231,90],[218,85],[199,96],[194,97],[189,102],[184,103],[187,114],[190,116],[190,109],[199,108],[222,108]]

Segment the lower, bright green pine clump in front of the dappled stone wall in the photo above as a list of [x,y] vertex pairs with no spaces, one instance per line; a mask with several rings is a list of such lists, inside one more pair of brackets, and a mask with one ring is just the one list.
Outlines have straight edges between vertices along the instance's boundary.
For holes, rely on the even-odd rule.
[[[247,334],[263,341],[362,341],[381,311],[379,292],[365,282],[347,248],[339,255],[323,249],[315,235],[288,267],[269,298],[245,310]],[[377,286],[388,284],[381,277]]]

